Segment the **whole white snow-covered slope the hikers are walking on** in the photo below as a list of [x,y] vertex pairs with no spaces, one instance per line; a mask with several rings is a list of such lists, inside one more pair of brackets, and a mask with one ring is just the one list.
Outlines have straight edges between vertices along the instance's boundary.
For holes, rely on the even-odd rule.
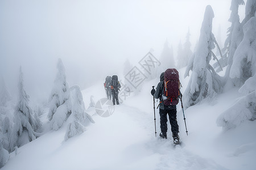
[[[187,79],[180,71],[183,90]],[[131,95],[114,108],[109,117],[100,117],[94,108],[87,112],[95,124],[64,142],[67,122],[58,131],[50,131],[10,154],[4,170],[13,169],[255,169],[255,122],[243,122],[236,129],[222,131],[217,117],[240,96],[236,89],[185,110],[177,106],[182,145],[172,145],[170,125],[168,139],[155,138],[152,86],[158,79],[143,84],[138,95]],[[85,108],[90,96],[97,102],[105,97],[102,83],[82,91]],[[157,105],[158,103],[156,103]],[[159,113],[156,109],[156,131],[159,135]]]

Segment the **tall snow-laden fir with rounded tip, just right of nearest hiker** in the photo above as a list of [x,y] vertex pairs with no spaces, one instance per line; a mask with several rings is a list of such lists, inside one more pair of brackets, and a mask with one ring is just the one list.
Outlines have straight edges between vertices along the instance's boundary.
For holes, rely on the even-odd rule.
[[214,57],[212,50],[215,47],[214,43],[216,43],[212,33],[213,18],[212,7],[208,5],[205,8],[197,50],[193,54],[193,61],[189,62],[190,65],[188,65],[185,73],[185,75],[188,75],[189,70],[192,69],[191,78],[184,92],[185,108],[195,105],[205,98],[213,98],[222,91],[221,77],[216,74],[209,63]]

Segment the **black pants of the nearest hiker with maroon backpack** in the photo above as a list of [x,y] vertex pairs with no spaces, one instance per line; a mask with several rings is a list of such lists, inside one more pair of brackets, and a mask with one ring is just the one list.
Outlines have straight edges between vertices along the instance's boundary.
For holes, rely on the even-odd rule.
[[172,133],[179,133],[179,125],[177,124],[176,109],[159,109],[161,132],[167,132],[167,114],[169,116]]

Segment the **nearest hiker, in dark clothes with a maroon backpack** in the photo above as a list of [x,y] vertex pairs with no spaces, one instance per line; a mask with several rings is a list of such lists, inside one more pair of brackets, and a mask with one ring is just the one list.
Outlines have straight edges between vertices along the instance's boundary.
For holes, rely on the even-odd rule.
[[176,105],[180,99],[180,81],[179,72],[176,69],[167,69],[160,75],[160,82],[155,89],[151,90],[151,95],[155,99],[160,99],[160,129],[161,138],[167,139],[167,114],[169,116],[172,138],[174,143],[179,144],[179,125],[177,124],[177,110]]

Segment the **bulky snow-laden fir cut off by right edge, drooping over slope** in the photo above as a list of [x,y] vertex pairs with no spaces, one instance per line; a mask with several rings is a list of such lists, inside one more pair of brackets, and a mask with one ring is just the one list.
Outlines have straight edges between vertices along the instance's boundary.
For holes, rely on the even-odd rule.
[[217,124],[224,129],[235,128],[242,122],[256,119],[256,17],[244,26],[244,37],[234,53],[230,77],[237,78],[243,86],[239,92],[245,94],[231,108],[218,117]]

